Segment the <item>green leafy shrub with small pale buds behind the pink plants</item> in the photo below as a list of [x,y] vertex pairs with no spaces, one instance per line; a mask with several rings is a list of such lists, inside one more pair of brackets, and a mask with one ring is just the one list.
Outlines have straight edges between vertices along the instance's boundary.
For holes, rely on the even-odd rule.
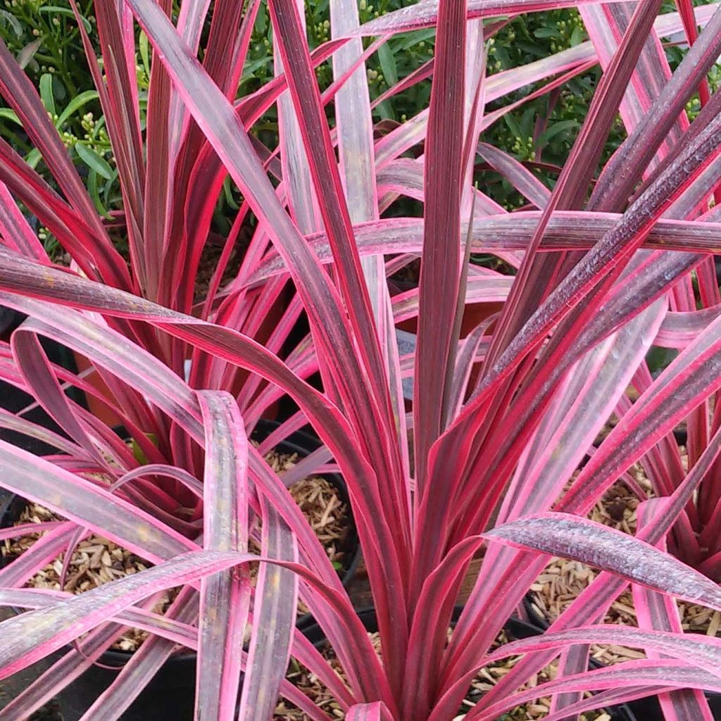
[[[400,6],[402,3],[398,1],[381,1],[376,5],[361,3],[359,16],[361,22],[367,22],[373,17],[379,17],[380,14],[399,9]],[[673,4],[665,4],[664,9],[665,12],[672,12]],[[179,8],[174,6],[176,14],[178,10]],[[81,12],[88,27],[92,27],[96,22],[92,3],[81,7]],[[206,20],[203,30],[205,34],[209,30],[209,25],[210,22]],[[329,14],[326,3],[311,2],[306,5],[306,28],[311,48],[316,48],[328,39]],[[82,59],[83,50],[79,33],[71,17],[67,0],[53,3],[15,0],[14,4],[11,0],[6,0],[6,8],[0,16],[0,36],[18,58],[30,58],[27,71],[37,87],[40,87],[40,80],[45,77],[43,84],[47,87],[43,97],[52,97],[51,102],[46,102],[46,107],[52,103],[56,108],[65,108],[68,97],[79,97],[79,100],[76,99],[71,106],[72,112],[66,112],[59,129],[65,133],[68,146],[80,143],[81,146],[89,149],[89,152],[77,157],[77,162],[87,166],[85,171],[87,185],[99,211],[117,209],[120,199],[118,177],[114,172],[112,153],[103,127],[104,119],[94,95],[92,76]],[[261,3],[244,67],[241,92],[252,92],[262,87],[273,76],[272,37],[267,4]],[[368,58],[366,66],[371,99],[378,99],[381,94],[393,87],[398,79],[407,77],[423,63],[430,61],[433,56],[434,38],[434,28],[399,33],[392,37],[377,55]],[[583,22],[575,9],[560,9],[510,18],[492,38],[488,72],[492,74],[517,68],[560,50],[575,47],[587,39]],[[136,40],[140,40],[137,44],[136,66],[138,83],[142,90],[147,89],[148,83],[147,43],[143,36],[138,36]],[[39,42],[42,44],[35,48]],[[32,55],[33,52],[35,55]],[[37,56],[37,53],[40,55]],[[676,45],[668,45],[666,54],[671,67],[674,68],[683,58],[684,51],[679,50]],[[43,61],[43,64],[40,64],[40,61]],[[718,74],[718,66],[715,65],[709,72],[709,82],[714,89],[718,84]],[[51,75],[52,79],[48,75]],[[329,66],[320,66],[318,76],[321,86],[327,87],[331,81]],[[511,110],[504,115],[503,120],[488,129],[487,140],[522,162],[532,163],[543,159],[555,166],[562,165],[570,150],[574,133],[583,123],[585,110],[597,81],[598,68],[592,68],[587,74],[571,79],[549,96],[543,95],[531,100],[519,110]],[[50,85],[52,92],[49,89]],[[524,94],[533,92],[536,87],[530,85],[513,92],[503,102],[508,104],[521,99]],[[428,105],[429,97],[428,82],[413,84],[380,102],[373,111],[374,117],[377,120],[407,120]],[[496,109],[501,105],[502,102],[495,102],[490,107]],[[687,108],[691,117],[698,112],[698,109],[695,100],[692,100]],[[92,112],[93,117],[87,118],[87,112]],[[92,127],[88,127],[89,121]],[[18,136],[17,127],[13,123],[4,125],[4,131],[6,137],[13,142],[20,141],[21,147],[28,150],[22,141],[22,136]],[[273,108],[268,110],[262,123],[255,125],[254,132],[259,133],[271,148],[277,145],[278,123]],[[610,154],[614,151],[623,137],[623,125],[618,121],[609,136],[606,153]],[[97,156],[100,156],[100,160]],[[36,162],[37,156],[32,156],[32,160]],[[533,166],[531,170],[546,185],[552,187],[556,172]],[[488,188],[490,195],[504,207],[523,205],[523,197],[518,195],[503,177],[486,171],[479,180]],[[229,232],[228,218],[234,210],[237,210],[238,202],[237,191],[229,183],[213,218],[214,227],[218,232],[222,234]],[[409,210],[410,207],[406,208],[405,212]]]

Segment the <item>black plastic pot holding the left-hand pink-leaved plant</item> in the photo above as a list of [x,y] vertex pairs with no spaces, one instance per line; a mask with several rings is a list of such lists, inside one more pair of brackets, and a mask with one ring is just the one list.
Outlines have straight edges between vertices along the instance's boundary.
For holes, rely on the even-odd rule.
[[[253,437],[265,438],[278,424],[273,421],[261,421],[257,424]],[[123,435],[122,429],[116,429]],[[304,457],[320,445],[317,438],[306,433],[294,433],[287,441],[278,443],[275,448],[281,453],[298,454]],[[348,490],[342,477],[337,474],[322,474],[337,489],[341,500],[348,504]],[[26,501],[17,496],[0,492],[0,528],[12,526],[17,521]],[[351,523],[350,532],[344,541],[343,550],[348,562],[342,569],[342,583],[348,585],[360,561],[358,534]],[[0,567],[8,559],[0,552]],[[17,612],[20,612],[19,609]],[[298,619],[297,627],[304,629],[313,624],[310,614]],[[95,699],[107,689],[118,676],[118,671],[131,658],[130,653],[108,650],[72,684],[69,684],[56,701],[60,706],[63,721],[76,721],[93,704]],[[108,667],[108,668],[106,668]],[[131,707],[123,714],[122,721],[192,721],[195,706],[195,653],[177,653],[172,655],[141,691]],[[1,712],[0,712],[1,717]]]

